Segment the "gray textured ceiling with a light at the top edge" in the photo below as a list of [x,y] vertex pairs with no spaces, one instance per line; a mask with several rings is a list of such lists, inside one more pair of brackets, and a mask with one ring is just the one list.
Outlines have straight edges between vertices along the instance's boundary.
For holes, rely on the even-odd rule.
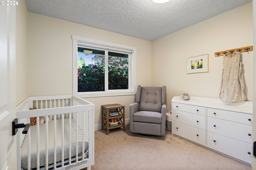
[[26,0],[29,12],[153,41],[252,0]]

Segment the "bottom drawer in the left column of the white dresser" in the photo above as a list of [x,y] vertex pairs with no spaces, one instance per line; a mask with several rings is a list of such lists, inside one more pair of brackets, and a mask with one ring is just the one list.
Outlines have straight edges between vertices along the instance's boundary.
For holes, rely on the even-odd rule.
[[172,133],[205,145],[205,131],[202,129],[173,121]]

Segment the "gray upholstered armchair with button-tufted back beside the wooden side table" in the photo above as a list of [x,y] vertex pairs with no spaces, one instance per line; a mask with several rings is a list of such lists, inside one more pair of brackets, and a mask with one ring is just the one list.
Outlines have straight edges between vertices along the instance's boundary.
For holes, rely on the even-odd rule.
[[130,131],[148,135],[165,135],[166,86],[141,87],[138,85],[136,103],[130,104]]

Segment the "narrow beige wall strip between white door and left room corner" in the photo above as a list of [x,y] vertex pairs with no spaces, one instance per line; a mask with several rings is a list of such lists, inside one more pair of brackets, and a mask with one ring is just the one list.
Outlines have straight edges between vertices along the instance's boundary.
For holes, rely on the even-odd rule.
[[16,105],[28,97],[28,11],[25,1],[16,6]]

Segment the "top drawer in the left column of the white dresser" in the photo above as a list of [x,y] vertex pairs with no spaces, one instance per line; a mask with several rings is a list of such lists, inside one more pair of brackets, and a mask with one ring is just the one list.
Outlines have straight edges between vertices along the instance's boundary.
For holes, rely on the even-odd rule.
[[180,110],[180,111],[186,111],[190,113],[195,113],[199,115],[205,115],[205,107],[202,106],[194,106],[189,104],[180,104],[180,103],[172,103],[172,109]]

